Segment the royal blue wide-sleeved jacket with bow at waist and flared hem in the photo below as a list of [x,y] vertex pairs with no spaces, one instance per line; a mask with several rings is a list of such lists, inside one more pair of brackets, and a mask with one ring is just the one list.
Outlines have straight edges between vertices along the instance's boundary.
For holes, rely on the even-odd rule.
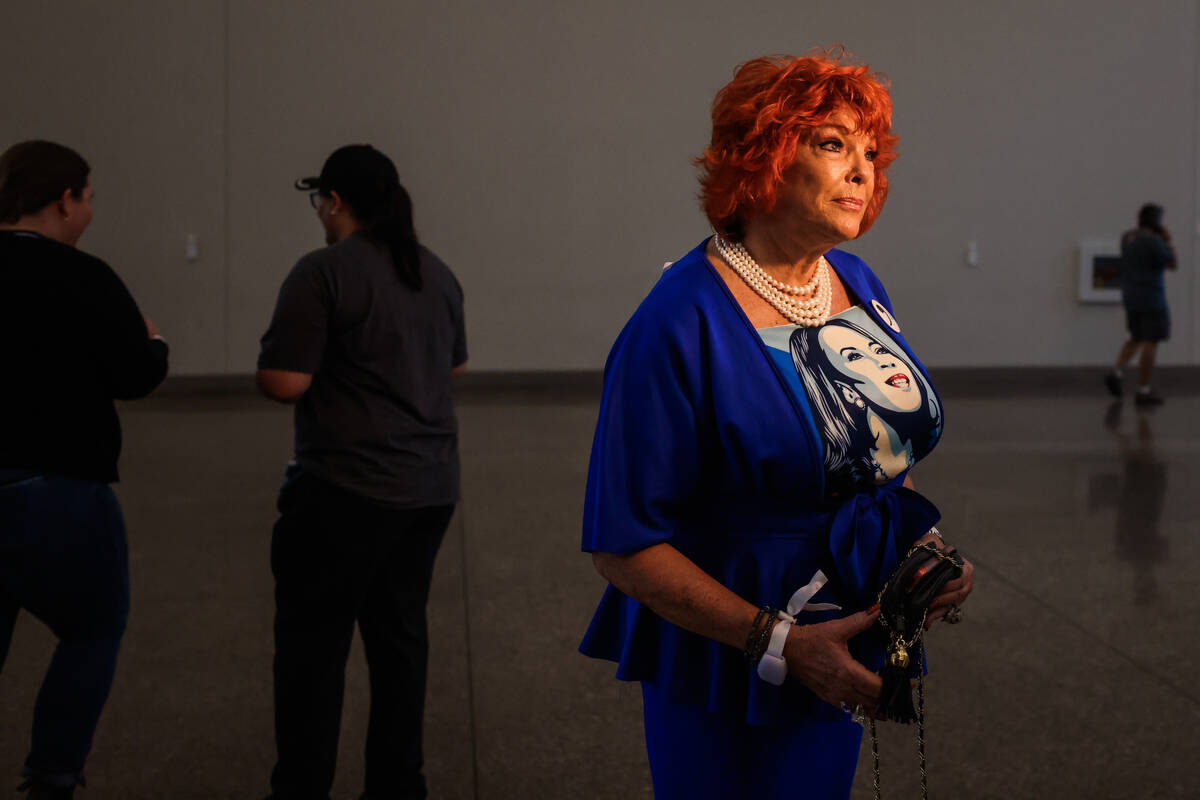
[[[605,365],[583,549],[629,554],[667,542],[749,602],[776,608],[821,570],[829,582],[812,601],[842,610],[805,612],[799,621],[862,610],[940,513],[901,486],[904,475],[827,497],[812,411],[704,246],[664,272]],[[866,264],[836,249],[826,258],[851,301],[892,330],[925,373]],[[880,652],[852,645],[878,667]],[[841,714],[794,679],[780,687],[760,680],[737,649],[667,622],[613,587],[580,650],[616,661],[619,679],[652,681],[678,702],[750,724]]]

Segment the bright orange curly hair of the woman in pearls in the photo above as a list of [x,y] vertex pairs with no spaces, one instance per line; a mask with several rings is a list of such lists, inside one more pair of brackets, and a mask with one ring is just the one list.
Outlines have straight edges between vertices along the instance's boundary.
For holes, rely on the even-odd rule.
[[892,96],[883,76],[863,64],[842,64],[845,55],[838,48],[755,59],[716,94],[713,142],[694,163],[702,169],[704,215],[722,236],[739,241],[749,219],[775,206],[797,146],[841,108],[876,140],[875,193],[858,235],[875,222],[888,197],[888,164],[898,155]]

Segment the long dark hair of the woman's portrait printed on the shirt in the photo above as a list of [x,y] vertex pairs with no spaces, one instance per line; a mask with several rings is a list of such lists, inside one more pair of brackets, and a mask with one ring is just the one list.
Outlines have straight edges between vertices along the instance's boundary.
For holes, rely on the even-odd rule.
[[[847,319],[832,319],[828,325],[847,327],[872,342],[878,338],[875,332]],[[890,342],[881,342],[889,353],[904,361],[920,392],[920,408],[916,411],[882,408],[858,389],[863,383],[859,377],[846,374],[829,361],[821,347],[820,335],[820,327],[798,327],[792,332],[790,348],[796,372],[823,422],[824,469],[829,476],[829,488],[834,492],[853,491],[875,482],[875,464],[871,459],[875,437],[868,422],[868,405],[892,429],[912,443],[913,461],[925,457],[942,433],[941,403],[925,375],[902,350]],[[847,401],[841,386],[852,389],[862,398],[862,405]]]

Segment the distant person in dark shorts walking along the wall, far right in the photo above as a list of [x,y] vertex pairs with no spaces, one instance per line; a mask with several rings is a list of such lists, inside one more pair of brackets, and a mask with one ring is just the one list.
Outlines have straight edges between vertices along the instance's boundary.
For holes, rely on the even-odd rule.
[[1171,235],[1163,227],[1163,206],[1147,203],[1138,211],[1138,227],[1121,236],[1121,299],[1129,339],[1117,351],[1104,385],[1114,397],[1123,393],[1122,369],[1134,355],[1138,363],[1138,405],[1160,405],[1163,397],[1151,385],[1158,343],[1171,337],[1163,272],[1176,266]]

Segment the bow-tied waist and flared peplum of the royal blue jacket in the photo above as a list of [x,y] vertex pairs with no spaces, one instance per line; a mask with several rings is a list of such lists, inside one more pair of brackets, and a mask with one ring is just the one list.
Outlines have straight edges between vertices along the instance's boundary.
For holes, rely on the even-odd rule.
[[[720,531],[679,531],[672,543],[756,606],[786,607],[792,593],[817,570],[823,571],[829,582],[811,602],[834,603],[841,610],[800,612],[799,624],[814,624],[874,603],[900,557],[940,517],[936,506],[917,492],[889,485],[836,506],[798,512],[786,523],[782,515],[749,517],[756,524],[769,518],[769,529],[722,525]],[[850,649],[869,669],[882,664],[882,650],[865,634],[852,639]],[[760,680],[738,649],[685,631],[611,585],[580,651],[614,661],[619,680],[653,684],[673,703],[746,724],[781,724],[797,714],[830,721],[845,717],[794,678],[782,686]]]

